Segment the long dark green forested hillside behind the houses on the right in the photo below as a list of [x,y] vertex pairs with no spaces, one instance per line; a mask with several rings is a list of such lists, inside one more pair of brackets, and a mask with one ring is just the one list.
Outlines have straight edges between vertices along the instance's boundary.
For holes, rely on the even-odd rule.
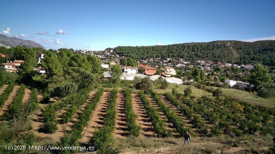
[[135,60],[145,58],[180,57],[187,61],[210,60],[238,64],[263,63],[275,64],[275,41],[256,42],[213,41],[183,43],[162,46],[118,46],[114,48],[120,56]]

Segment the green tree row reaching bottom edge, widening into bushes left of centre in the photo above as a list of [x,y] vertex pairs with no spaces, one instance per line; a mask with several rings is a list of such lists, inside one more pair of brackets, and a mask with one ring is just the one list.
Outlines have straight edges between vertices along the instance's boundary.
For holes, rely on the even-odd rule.
[[104,116],[104,124],[101,128],[93,133],[91,138],[91,144],[97,149],[97,154],[117,154],[118,149],[113,147],[113,137],[112,132],[115,124],[115,104],[117,98],[117,90],[113,89],[111,91],[110,97],[108,99],[108,106],[106,109],[106,114]]

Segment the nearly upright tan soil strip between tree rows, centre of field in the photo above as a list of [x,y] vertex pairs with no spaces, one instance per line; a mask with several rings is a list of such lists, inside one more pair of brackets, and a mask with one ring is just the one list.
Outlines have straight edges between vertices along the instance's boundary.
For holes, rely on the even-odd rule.
[[118,93],[116,98],[116,117],[113,135],[115,138],[125,138],[128,135],[125,117],[124,95]]

